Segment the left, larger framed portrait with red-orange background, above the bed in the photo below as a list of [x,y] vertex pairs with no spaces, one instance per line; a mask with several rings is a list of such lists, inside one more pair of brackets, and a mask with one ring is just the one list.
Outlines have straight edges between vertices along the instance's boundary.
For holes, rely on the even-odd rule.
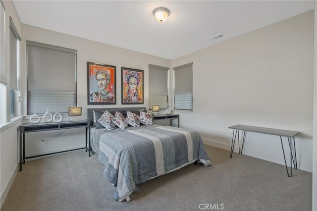
[[115,66],[87,62],[88,105],[115,103]]

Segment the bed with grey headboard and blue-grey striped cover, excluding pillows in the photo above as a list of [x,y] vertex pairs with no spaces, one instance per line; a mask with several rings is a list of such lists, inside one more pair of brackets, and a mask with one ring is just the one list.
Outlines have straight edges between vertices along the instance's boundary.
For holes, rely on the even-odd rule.
[[[87,116],[92,122],[94,110],[137,113],[145,111],[145,107],[88,108]],[[130,200],[136,184],[197,161],[212,165],[196,131],[157,124],[113,130],[96,126],[90,130],[90,146],[105,165],[104,177],[115,187],[113,199],[119,202]]]

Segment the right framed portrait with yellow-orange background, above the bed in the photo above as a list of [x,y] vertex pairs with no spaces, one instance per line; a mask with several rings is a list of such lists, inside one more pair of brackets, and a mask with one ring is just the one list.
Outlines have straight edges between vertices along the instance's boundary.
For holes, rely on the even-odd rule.
[[143,104],[143,70],[121,67],[122,104]]

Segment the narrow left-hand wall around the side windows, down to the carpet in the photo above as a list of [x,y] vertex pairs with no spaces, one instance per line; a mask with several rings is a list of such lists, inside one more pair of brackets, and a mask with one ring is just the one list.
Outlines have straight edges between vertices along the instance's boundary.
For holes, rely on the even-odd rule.
[[[5,9],[5,37],[6,44],[10,43],[10,17],[12,18],[14,25],[20,34],[21,33],[21,21],[15,10],[14,4],[12,1],[4,0],[1,1],[3,3]],[[2,18],[2,17],[1,17]],[[1,46],[1,48],[3,48]],[[6,77],[7,77],[7,87],[10,86],[10,51],[9,46],[6,46]],[[1,93],[2,95],[3,93]],[[17,131],[20,120],[6,123],[10,121],[9,113],[5,112],[7,108],[9,108],[9,89],[7,89],[7,101],[6,106],[1,104],[0,112],[1,112],[1,122],[0,124],[0,207],[2,206],[5,197],[7,196],[8,191],[10,190],[11,184],[15,178],[17,173],[17,152],[18,152],[18,137]],[[3,107],[2,107],[3,106]],[[4,113],[3,113],[4,110]],[[17,106],[16,113],[20,113],[20,106]],[[2,115],[6,115],[3,117]],[[6,126],[4,126],[6,125]]]

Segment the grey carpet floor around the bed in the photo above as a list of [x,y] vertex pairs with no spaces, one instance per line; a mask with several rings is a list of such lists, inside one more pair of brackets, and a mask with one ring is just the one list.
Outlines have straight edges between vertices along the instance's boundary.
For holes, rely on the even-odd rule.
[[311,211],[312,173],[206,146],[214,166],[190,164],[112,199],[97,155],[84,151],[29,161],[1,211]]

